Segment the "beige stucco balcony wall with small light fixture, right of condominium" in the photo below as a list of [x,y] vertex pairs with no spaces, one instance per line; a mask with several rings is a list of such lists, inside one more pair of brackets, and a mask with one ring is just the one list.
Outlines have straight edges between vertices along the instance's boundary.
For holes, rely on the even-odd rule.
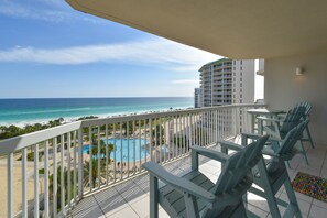
[[[290,109],[299,101],[313,105],[310,132],[327,146],[327,52],[265,59],[264,97],[272,109]],[[295,76],[296,67],[304,68]]]

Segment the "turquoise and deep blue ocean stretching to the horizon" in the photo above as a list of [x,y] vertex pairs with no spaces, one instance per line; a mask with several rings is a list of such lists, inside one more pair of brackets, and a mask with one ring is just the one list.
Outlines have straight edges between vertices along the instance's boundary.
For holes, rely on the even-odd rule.
[[0,124],[185,109],[193,102],[192,97],[0,99]]

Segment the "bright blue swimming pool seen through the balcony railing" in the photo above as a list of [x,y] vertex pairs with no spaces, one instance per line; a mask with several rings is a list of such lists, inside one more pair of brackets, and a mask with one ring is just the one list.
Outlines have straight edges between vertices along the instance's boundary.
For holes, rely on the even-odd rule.
[[[105,140],[103,140],[105,141]],[[115,142],[115,143],[113,143]],[[133,162],[145,159],[145,155],[149,155],[149,151],[145,150],[145,139],[108,139],[108,144],[116,144],[116,162]],[[97,145],[94,145],[97,146]],[[89,151],[89,145],[83,148],[83,153],[87,154]],[[140,155],[141,151],[141,155]],[[122,154],[122,160],[121,160]],[[134,155],[135,154],[135,155]],[[128,159],[129,156],[129,159]],[[110,154],[110,159],[115,159],[115,152]]]

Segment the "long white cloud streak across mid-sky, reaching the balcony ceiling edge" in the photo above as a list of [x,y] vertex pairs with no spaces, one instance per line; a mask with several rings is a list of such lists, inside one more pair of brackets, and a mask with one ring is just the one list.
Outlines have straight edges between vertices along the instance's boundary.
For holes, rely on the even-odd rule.
[[133,65],[155,65],[174,70],[198,70],[203,64],[219,57],[164,39],[64,48],[15,46],[0,51],[0,62],[33,62],[54,65],[121,62]]

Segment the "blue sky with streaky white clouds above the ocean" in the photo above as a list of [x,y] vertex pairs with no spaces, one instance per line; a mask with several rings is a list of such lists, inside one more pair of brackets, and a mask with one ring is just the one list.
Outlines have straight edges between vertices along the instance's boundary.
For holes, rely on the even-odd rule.
[[0,98],[192,97],[218,58],[64,0],[0,0]]

